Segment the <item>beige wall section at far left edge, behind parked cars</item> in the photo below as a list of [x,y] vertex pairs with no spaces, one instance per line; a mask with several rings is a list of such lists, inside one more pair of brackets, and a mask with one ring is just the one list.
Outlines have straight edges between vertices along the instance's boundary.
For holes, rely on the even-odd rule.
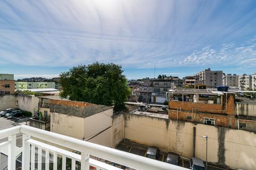
[[0,111],[8,108],[18,108],[18,104],[16,104],[16,97],[14,95],[0,96]]

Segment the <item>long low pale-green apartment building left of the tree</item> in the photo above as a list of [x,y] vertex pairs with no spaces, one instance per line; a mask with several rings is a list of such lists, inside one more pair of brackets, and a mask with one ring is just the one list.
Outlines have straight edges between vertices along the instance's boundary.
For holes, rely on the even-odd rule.
[[15,90],[55,88],[55,82],[15,82]]

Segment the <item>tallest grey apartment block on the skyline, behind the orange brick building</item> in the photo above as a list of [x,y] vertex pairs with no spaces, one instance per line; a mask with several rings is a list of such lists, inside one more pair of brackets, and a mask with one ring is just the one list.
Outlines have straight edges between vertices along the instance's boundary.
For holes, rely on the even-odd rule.
[[196,74],[207,88],[222,86],[222,71],[212,71],[210,68]]

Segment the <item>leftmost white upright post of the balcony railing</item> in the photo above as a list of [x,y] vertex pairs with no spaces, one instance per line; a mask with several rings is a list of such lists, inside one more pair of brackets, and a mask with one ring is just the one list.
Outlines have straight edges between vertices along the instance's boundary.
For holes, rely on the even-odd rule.
[[16,135],[12,135],[9,137],[9,142],[11,142],[8,146],[8,170],[16,169]]

